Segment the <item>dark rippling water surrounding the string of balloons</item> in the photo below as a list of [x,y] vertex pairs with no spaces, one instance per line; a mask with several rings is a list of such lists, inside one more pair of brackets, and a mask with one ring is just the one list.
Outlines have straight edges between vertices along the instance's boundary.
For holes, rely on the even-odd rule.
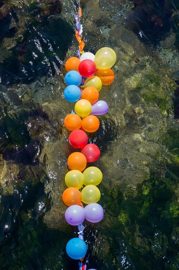
[[[179,1],[81,0],[85,52],[111,47],[109,112],[89,142],[104,219],[85,221],[87,270],[179,269]],[[62,202],[65,62],[78,1],[0,1],[0,269],[78,270]]]

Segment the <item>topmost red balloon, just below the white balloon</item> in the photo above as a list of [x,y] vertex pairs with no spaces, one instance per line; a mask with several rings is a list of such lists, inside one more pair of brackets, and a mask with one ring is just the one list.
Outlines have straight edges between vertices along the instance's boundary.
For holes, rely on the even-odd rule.
[[81,61],[78,69],[81,76],[85,78],[89,78],[95,74],[96,64],[92,60],[86,59],[86,60]]

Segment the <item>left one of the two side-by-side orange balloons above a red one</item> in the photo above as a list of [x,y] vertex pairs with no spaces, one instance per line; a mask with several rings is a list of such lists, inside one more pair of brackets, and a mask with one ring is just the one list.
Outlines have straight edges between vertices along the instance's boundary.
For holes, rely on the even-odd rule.
[[64,125],[70,131],[80,129],[82,125],[82,120],[79,115],[70,113],[65,117]]

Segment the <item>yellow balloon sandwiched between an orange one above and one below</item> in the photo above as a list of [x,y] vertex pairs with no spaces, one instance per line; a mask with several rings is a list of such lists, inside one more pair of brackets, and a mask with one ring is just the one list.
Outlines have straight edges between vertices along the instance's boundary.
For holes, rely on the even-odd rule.
[[68,188],[81,189],[84,183],[84,176],[81,171],[71,170],[65,176],[65,183]]

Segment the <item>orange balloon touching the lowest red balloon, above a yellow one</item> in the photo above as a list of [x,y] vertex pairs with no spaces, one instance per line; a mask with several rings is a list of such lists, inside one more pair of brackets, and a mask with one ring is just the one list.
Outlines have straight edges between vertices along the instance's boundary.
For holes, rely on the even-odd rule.
[[69,155],[67,163],[71,170],[83,171],[87,166],[87,159],[82,153],[74,152]]

